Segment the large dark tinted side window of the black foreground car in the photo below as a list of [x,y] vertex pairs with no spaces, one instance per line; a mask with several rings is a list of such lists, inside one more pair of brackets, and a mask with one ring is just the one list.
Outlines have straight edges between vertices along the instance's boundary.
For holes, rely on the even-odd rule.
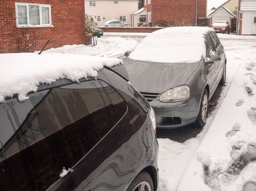
[[85,156],[127,111],[107,83],[86,81],[0,104],[1,190],[47,189]]

